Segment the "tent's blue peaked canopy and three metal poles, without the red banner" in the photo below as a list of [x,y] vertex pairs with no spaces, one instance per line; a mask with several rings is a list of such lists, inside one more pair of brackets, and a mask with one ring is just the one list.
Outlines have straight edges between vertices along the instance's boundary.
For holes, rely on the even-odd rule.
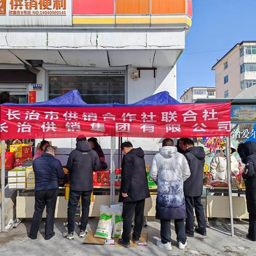
[[[61,106],[61,107],[126,107],[126,106],[154,106],[154,105],[178,105],[180,102],[173,99],[168,92],[160,92],[150,97],[138,101],[133,104],[87,104],[77,90],[70,91],[58,98],[30,104],[22,104],[22,106]],[[13,106],[15,104],[6,103],[4,105]],[[21,106],[21,105],[20,105]],[[230,138],[226,137],[227,145],[227,170],[228,170],[228,192],[229,192],[229,210],[231,236],[234,236],[234,221],[233,221],[233,204],[231,193],[231,166],[230,166]],[[116,153],[116,137],[111,137],[110,142],[110,204],[115,203],[115,153]],[[5,231],[5,140],[1,140],[1,190],[2,190],[2,231]]]

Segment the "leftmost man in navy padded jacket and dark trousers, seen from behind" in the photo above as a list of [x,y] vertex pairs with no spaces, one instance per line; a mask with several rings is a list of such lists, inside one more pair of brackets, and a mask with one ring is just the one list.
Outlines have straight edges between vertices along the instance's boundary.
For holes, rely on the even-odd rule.
[[54,148],[48,146],[45,153],[33,162],[35,173],[35,212],[30,227],[29,237],[36,239],[46,205],[45,240],[51,239],[55,233],[54,213],[58,196],[58,180],[65,178],[60,161],[54,158]]

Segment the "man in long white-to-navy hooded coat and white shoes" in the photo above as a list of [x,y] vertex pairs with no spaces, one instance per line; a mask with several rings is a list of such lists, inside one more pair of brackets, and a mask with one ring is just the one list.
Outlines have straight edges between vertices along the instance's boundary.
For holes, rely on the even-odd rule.
[[157,241],[157,246],[172,250],[171,219],[174,219],[179,249],[185,249],[187,237],[183,182],[189,178],[190,170],[185,156],[177,152],[172,139],[163,140],[163,147],[151,164],[150,176],[157,183],[156,219],[161,220],[161,241]]

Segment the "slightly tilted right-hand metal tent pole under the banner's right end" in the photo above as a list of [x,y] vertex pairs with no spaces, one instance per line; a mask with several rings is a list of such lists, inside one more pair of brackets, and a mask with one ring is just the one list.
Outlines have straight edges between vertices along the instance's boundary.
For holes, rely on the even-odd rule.
[[229,197],[229,211],[230,211],[230,226],[231,237],[234,237],[234,219],[233,219],[233,202],[232,202],[232,188],[231,188],[231,159],[230,159],[230,137],[226,137],[227,148],[227,172],[228,172],[228,197]]

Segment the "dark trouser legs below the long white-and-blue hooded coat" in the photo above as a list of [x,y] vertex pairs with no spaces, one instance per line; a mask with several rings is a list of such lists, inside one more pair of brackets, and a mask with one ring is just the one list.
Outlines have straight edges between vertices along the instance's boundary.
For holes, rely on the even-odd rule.
[[[161,241],[163,244],[171,242],[171,220],[161,220]],[[177,241],[185,244],[187,241],[185,233],[185,220],[174,220]]]

